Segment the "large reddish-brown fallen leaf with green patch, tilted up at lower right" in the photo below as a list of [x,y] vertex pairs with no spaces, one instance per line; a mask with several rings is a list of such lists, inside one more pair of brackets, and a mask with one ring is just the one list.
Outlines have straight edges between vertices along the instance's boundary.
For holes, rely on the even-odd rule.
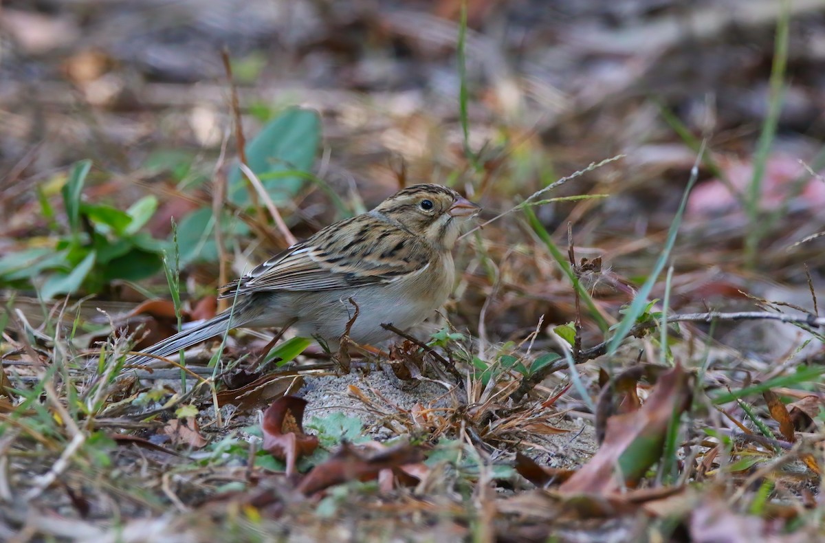
[[691,382],[692,375],[679,365],[662,375],[642,408],[607,421],[599,451],[559,490],[612,493],[635,484],[662,455],[674,412],[681,413],[690,405]]

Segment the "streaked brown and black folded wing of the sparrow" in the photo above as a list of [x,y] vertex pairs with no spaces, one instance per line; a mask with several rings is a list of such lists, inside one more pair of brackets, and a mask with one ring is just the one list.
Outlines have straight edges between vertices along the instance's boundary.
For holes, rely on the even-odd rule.
[[389,283],[423,272],[435,250],[422,238],[370,215],[321,230],[230,284],[222,298],[263,290],[333,290]]

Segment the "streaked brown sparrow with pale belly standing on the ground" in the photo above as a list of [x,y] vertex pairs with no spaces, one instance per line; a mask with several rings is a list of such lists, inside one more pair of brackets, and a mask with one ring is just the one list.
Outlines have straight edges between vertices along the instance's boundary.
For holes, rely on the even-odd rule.
[[[450,295],[451,254],[462,219],[479,205],[448,187],[407,187],[362,215],[338,221],[223,287],[233,307],[158,342],[142,354],[168,356],[239,327],[295,329],[337,352],[349,338],[373,345],[392,337],[381,327],[422,322]],[[154,358],[137,355],[127,364]]]

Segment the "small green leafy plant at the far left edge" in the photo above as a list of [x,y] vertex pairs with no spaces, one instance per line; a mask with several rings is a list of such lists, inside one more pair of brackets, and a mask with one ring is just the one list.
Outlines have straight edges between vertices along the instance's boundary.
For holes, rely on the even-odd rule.
[[0,258],[0,286],[35,287],[48,300],[80,290],[98,292],[115,279],[139,281],[160,270],[166,243],[140,232],[157,210],[157,198],[141,198],[125,211],[87,203],[82,191],[91,168],[89,160],[76,163],[64,184],[66,224],[54,220],[54,208],[40,195],[57,242]]

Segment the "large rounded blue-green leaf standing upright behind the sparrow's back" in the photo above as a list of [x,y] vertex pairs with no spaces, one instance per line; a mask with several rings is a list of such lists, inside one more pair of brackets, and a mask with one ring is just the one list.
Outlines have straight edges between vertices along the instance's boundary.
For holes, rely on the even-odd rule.
[[[267,123],[246,147],[247,166],[257,176],[262,176],[266,193],[276,204],[294,198],[304,179],[287,175],[265,180],[265,174],[297,170],[308,172],[318,153],[321,139],[321,120],[318,113],[299,107],[282,111]],[[238,166],[229,172],[229,198],[238,205],[248,205],[249,191],[253,190],[241,175]]]

